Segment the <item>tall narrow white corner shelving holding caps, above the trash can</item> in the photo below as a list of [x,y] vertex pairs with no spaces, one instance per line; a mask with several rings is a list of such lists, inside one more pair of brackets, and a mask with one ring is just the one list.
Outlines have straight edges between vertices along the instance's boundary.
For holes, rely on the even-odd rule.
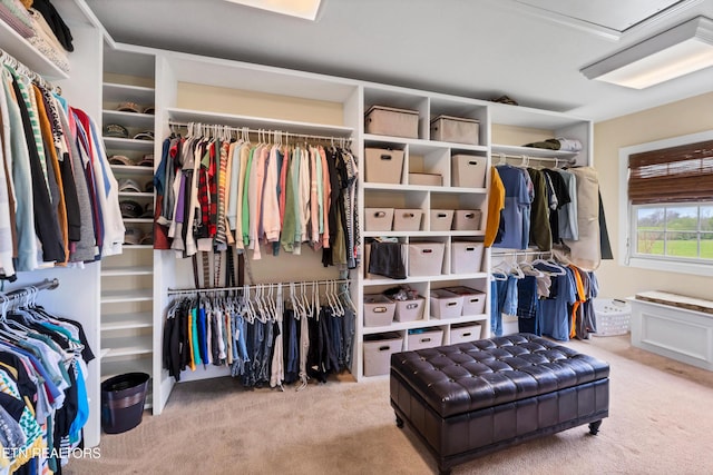
[[[128,138],[104,137],[107,156],[124,156],[133,165],[111,164],[111,171],[119,184],[119,202],[129,200],[150,216],[125,217],[124,226],[138,243],[125,241],[123,254],[107,257],[101,263],[101,379],[124,373],[141,372],[152,377],[154,347],[154,253],[153,209],[154,169],[138,165],[146,156],[154,155],[154,140],[134,139],[144,131],[155,130],[155,113],[146,108],[155,106],[154,65],[149,58],[133,58],[135,66],[127,69],[116,66],[117,56],[126,55],[105,49],[102,82],[102,127],[116,123],[128,130]],[[138,111],[117,110],[123,102],[133,102]],[[121,189],[131,180],[138,189]],[[149,384],[146,407],[152,407],[153,389]]]

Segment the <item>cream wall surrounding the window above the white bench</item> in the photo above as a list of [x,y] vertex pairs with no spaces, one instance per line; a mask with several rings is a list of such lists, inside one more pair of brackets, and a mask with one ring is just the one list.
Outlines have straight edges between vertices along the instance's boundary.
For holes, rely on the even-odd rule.
[[614,260],[603,260],[597,270],[599,295],[627,297],[642,290],[664,290],[699,298],[711,298],[712,277],[664,273],[619,266],[618,256],[618,151],[622,147],[646,144],[713,129],[713,92],[595,123],[594,164]]

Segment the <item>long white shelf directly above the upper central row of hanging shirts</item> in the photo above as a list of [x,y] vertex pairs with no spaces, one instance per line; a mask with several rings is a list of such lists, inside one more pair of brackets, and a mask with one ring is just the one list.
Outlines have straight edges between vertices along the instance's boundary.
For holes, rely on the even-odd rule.
[[291,133],[319,135],[328,137],[351,137],[354,129],[326,123],[299,122],[254,116],[237,116],[231,113],[206,112],[201,110],[167,108],[169,120],[174,122],[215,123],[231,127],[247,127],[251,129],[282,130]]

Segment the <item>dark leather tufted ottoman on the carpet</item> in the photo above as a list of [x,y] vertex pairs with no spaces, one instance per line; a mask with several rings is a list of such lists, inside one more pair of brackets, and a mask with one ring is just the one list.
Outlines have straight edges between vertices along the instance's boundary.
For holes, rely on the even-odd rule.
[[391,356],[391,406],[453,465],[609,414],[609,365],[530,334]]

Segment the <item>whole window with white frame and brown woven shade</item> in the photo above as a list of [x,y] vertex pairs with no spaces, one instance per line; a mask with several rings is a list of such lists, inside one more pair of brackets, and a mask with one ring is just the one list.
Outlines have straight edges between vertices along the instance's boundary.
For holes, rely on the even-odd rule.
[[713,132],[619,150],[619,260],[713,275]]

